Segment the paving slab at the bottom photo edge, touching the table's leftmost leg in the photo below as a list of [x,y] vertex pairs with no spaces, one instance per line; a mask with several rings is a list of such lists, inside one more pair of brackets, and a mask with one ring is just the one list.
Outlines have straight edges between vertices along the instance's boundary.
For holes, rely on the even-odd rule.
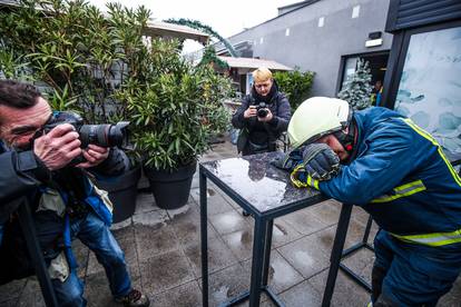
[[199,307],[202,306],[202,290],[198,281],[193,280],[165,293],[150,297],[155,307]]

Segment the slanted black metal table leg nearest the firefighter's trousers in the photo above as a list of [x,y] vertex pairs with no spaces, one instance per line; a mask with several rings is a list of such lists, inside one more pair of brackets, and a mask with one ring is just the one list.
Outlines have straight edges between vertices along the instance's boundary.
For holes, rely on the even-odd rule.
[[328,278],[326,280],[325,291],[323,293],[322,307],[327,307],[331,304],[334,285],[336,283],[337,270],[343,255],[344,241],[347,235],[349,221],[351,219],[352,205],[343,204],[341,208],[340,221],[337,222],[336,235],[332,255],[330,258]]

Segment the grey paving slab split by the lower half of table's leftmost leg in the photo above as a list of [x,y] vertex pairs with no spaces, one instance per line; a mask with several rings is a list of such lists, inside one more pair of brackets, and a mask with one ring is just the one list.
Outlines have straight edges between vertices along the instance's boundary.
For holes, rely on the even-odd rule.
[[[190,261],[194,274],[202,276],[200,242],[192,242],[184,247],[184,252]],[[208,271],[217,271],[238,263],[232,250],[220,238],[208,239]]]

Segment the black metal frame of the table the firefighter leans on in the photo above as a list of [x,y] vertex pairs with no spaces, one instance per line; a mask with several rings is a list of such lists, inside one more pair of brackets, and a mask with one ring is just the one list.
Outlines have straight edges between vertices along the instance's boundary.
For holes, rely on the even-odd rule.
[[[253,259],[252,259],[252,276],[249,291],[245,291],[230,300],[223,303],[222,306],[233,306],[239,304],[249,298],[249,306],[259,306],[259,298],[262,291],[265,291],[268,297],[277,306],[284,306],[276,294],[268,287],[268,267],[271,259],[271,244],[272,244],[272,230],[273,220],[276,217],[281,217],[296,210],[313,206],[321,201],[328,199],[323,195],[313,197],[308,202],[297,201],[284,208],[275,208],[267,212],[261,214],[255,210],[251,204],[243,199],[234,190],[229,189],[223,181],[219,180],[214,174],[208,171],[204,166],[199,166],[199,190],[200,190],[200,240],[202,240],[202,298],[203,306],[208,306],[208,238],[207,238],[207,178],[213,181],[219,189],[222,189],[227,196],[238,204],[244,210],[249,212],[255,219],[255,229],[253,238]],[[347,235],[349,222],[351,219],[352,205],[342,204],[340,220],[336,228],[336,235],[334,238],[333,249],[331,254],[331,266],[328,270],[328,277],[323,295],[322,306],[330,306],[334,286],[336,283],[337,271],[341,267],[341,259],[343,258],[343,248],[345,238]],[[370,231],[365,231],[370,232]],[[367,239],[367,235],[366,235]],[[362,246],[361,246],[362,247]],[[354,246],[359,249],[361,247]],[[350,248],[349,250],[351,250]],[[346,250],[347,251],[347,250]],[[350,251],[347,255],[353,252]],[[346,256],[346,255],[344,255]],[[354,278],[354,276],[353,276]],[[360,278],[360,277],[359,277]],[[355,279],[355,278],[354,278]],[[356,279],[359,281],[359,279]],[[360,281],[359,281],[360,283]]]

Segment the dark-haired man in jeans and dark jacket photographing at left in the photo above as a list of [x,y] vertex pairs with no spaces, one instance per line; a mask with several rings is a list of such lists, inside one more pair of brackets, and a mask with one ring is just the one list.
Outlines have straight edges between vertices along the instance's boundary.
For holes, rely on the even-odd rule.
[[[14,277],[8,276],[14,273],[11,263],[28,266],[14,216],[21,199],[27,198],[59,306],[86,306],[71,251],[73,237],[105,267],[117,301],[148,306],[148,298],[131,288],[124,252],[109,230],[111,202],[90,180],[89,171],[107,176],[125,171],[125,154],[96,145],[80,148],[79,133],[69,123],[37,136],[50,117],[48,102],[35,87],[0,80],[1,281]],[[86,161],[69,165],[80,156]]]

